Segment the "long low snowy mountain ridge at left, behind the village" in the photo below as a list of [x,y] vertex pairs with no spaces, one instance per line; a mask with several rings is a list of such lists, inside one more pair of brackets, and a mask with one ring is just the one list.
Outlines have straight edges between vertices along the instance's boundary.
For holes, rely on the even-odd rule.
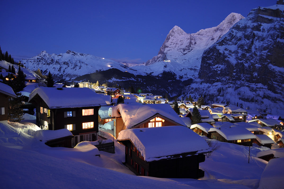
[[50,71],[56,79],[69,80],[81,75],[110,68],[127,71],[135,75],[146,75],[143,72],[137,72],[136,70],[130,69],[127,66],[110,59],[70,50],[58,55],[48,54],[46,51],[42,51],[37,56],[20,61],[30,70],[37,70],[38,68],[41,69],[43,71],[43,75]]

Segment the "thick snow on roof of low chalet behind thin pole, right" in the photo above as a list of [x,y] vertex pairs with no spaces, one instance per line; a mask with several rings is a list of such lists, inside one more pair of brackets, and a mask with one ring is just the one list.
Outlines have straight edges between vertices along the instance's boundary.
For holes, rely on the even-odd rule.
[[250,131],[241,127],[220,127],[220,129],[210,128],[208,132],[214,132],[214,131],[219,133],[227,141],[256,138],[256,136],[252,134]]

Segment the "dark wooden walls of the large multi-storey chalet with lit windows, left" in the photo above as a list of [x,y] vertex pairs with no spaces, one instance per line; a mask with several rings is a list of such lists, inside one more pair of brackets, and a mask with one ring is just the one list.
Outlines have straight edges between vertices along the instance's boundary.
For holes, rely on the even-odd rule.
[[[36,106],[36,124],[41,129],[58,130],[72,124],[74,135],[72,146],[82,141],[96,141],[99,131],[99,108],[100,106],[78,107],[78,108],[53,108],[50,109],[37,94],[31,101]],[[41,107],[45,111],[41,111]],[[93,115],[82,115],[83,109],[93,109]],[[66,117],[64,112],[72,112],[72,116]],[[66,114],[66,113],[65,113]],[[93,128],[83,129],[83,123],[93,122]]]

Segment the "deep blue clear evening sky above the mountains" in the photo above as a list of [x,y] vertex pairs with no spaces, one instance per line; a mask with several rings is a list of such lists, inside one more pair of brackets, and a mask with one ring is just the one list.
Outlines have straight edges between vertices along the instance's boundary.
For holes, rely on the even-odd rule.
[[220,24],[231,12],[244,17],[276,0],[3,1],[0,46],[15,60],[73,50],[143,62],[158,54],[175,26],[186,33]]

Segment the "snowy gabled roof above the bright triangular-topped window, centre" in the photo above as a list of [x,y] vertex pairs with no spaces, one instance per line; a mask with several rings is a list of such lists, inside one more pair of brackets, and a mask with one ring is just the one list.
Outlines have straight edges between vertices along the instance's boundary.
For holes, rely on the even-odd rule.
[[160,114],[177,124],[186,126],[169,104],[119,104],[117,108],[120,111],[126,129],[130,129],[156,114]]

